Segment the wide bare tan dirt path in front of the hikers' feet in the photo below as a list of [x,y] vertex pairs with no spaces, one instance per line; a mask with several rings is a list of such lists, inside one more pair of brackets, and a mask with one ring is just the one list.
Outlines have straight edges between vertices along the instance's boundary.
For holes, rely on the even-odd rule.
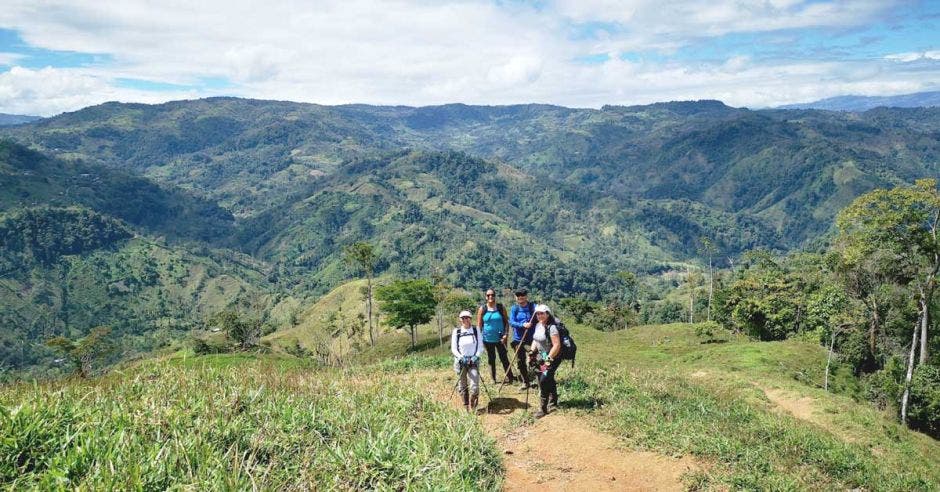
[[[585,417],[565,409],[564,395],[562,409],[531,421],[521,415],[525,393],[506,387],[501,394],[481,418],[503,450],[507,491],[683,490],[682,475],[700,468],[688,457],[624,449]],[[534,411],[538,395],[533,392],[529,398]],[[481,405],[488,401],[481,395]],[[460,403],[455,399],[454,405]]]

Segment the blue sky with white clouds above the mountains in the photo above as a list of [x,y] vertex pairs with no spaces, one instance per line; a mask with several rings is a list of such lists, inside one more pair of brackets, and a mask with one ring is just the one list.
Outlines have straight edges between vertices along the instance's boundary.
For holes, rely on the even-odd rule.
[[0,112],[238,96],[320,104],[940,90],[940,0],[3,0]]

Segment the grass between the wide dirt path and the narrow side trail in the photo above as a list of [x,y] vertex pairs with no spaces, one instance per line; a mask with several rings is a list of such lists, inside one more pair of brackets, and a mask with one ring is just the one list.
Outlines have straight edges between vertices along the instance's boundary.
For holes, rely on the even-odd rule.
[[[873,456],[866,447],[755,405],[742,398],[740,388],[693,383],[662,371],[630,374],[622,367],[582,369],[561,384],[563,400],[603,406],[602,425],[627,443],[698,457],[708,471],[687,477],[692,488],[938,487],[940,470],[931,469],[926,457],[914,454],[899,464]],[[884,445],[890,448],[895,443]]]

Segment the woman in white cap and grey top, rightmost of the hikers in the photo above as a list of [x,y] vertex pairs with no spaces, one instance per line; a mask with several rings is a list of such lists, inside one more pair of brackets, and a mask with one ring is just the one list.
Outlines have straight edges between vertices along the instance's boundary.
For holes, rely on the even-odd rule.
[[540,406],[534,417],[539,418],[548,413],[549,405],[558,406],[555,371],[561,365],[562,359],[561,335],[551,310],[545,304],[539,304],[535,307],[535,317],[538,323],[532,333],[532,351],[529,361],[538,372]]

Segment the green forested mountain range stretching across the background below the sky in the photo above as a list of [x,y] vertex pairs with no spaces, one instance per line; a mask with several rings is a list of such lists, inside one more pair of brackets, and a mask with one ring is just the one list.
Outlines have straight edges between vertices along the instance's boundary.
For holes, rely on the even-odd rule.
[[[5,229],[7,265],[30,260],[5,275],[4,311],[29,336],[105,323],[138,336],[249,298],[312,299],[348,277],[342,249],[363,240],[379,273],[597,299],[618,271],[702,261],[703,238],[716,258],[825,240],[854,197],[940,170],[940,109],[215,98],[108,103],[0,135],[18,142],[0,144],[4,220],[92,224],[102,239],[43,262],[41,248],[10,246],[26,229]],[[157,274],[133,273],[147,268]],[[72,303],[83,269],[92,297]]]

